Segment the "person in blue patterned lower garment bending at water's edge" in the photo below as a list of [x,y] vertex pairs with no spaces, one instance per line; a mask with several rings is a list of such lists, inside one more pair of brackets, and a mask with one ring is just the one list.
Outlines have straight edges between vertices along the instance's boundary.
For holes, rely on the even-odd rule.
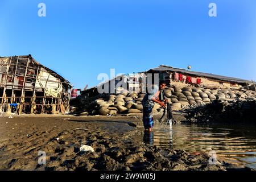
[[[163,94],[163,92],[160,92],[160,90],[163,90],[166,88],[166,82],[160,81],[159,87],[156,85],[152,85],[152,88],[148,90],[147,94],[144,96],[142,100],[143,105],[143,125],[145,131],[151,132],[152,127],[154,126],[154,119],[153,119],[153,107],[155,105],[155,102],[160,104],[163,108],[166,107],[166,100],[164,96],[161,96],[160,93]],[[162,102],[163,100],[163,102]]]

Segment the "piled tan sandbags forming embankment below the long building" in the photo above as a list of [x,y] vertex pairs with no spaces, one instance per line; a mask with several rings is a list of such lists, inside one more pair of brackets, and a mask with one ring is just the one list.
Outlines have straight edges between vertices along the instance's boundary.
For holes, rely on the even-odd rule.
[[[174,86],[164,90],[164,94],[171,103],[172,110],[181,110],[186,106],[205,105],[214,100],[234,100],[235,98],[256,100],[256,92],[246,92],[228,89],[203,89],[185,86]],[[145,94],[129,93],[127,90],[118,90],[116,94],[104,94],[93,101],[89,106],[90,115],[113,115],[125,113],[142,113],[142,100]],[[162,111],[155,103],[154,112]]]

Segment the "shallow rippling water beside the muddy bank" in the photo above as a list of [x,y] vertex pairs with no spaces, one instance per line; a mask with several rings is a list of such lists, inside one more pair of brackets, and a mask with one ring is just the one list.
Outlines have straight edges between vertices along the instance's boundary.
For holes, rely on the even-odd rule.
[[155,123],[144,142],[161,148],[183,149],[192,154],[216,152],[217,159],[256,169],[256,126],[218,124]]

